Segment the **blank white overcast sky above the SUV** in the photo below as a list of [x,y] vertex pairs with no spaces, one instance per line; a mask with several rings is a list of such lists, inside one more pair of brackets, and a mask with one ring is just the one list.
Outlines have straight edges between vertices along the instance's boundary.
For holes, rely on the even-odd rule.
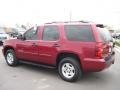
[[87,20],[120,27],[120,0],[0,0],[0,25]]

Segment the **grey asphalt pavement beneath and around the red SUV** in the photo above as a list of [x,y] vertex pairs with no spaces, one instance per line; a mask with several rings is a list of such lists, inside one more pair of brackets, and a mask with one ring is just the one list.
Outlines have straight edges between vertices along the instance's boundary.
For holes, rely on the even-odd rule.
[[0,47],[0,90],[120,90],[120,50],[108,69],[85,74],[75,83],[63,81],[55,69],[21,64],[9,67]]

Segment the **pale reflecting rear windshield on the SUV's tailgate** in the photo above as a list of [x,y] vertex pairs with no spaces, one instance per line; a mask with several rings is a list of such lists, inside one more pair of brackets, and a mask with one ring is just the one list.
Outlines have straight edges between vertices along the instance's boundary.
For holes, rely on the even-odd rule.
[[112,36],[106,28],[98,27],[98,31],[103,41],[112,41]]

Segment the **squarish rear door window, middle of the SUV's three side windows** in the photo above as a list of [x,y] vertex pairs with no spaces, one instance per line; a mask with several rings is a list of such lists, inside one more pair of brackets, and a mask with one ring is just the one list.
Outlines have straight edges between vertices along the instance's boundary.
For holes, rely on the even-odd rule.
[[59,30],[57,26],[45,26],[43,40],[55,41],[59,39]]

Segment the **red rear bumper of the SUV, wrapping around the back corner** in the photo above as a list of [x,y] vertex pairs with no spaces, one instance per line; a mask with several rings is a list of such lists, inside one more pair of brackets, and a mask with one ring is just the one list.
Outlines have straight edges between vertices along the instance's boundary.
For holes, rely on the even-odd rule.
[[112,54],[109,60],[105,59],[91,59],[86,58],[82,62],[83,71],[84,72],[98,72],[104,70],[114,64],[115,61],[115,54]]

